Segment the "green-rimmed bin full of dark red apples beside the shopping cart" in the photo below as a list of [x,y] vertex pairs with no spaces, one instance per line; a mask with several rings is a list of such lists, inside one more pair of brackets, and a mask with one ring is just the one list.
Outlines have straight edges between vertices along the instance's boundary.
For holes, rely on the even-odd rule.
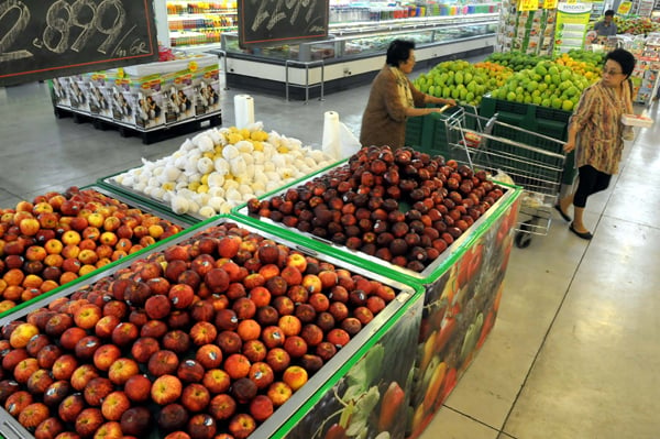
[[[466,166],[407,147],[364,147],[336,168],[234,212],[274,234],[297,231],[299,242],[318,252],[356,265],[371,262],[386,277],[424,286],[406,437],[419,436],[440,408],[497,314],[520,188],[495,185],[482,174],[474,176],[477,183],[472,177]],[[466,184],[463,199],[459,179],[470,180],[474,189],[482,187],[483,196],[482,190],[470,196]],[[446,187],[451,189],[442,190]],[[293,213],[286,215],[292,201]],[[480,213],[480,207],[487,208]],[[463,208],[470,213],[454,220]],[[469,220],[469,215],[476,219]],[[321,229],[332,234],[319,237]]]

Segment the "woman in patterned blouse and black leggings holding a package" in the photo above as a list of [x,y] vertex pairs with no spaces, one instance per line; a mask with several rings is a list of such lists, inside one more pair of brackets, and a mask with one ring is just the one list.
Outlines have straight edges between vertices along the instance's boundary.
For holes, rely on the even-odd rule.
[[573,205],[575,218],[569,229],[585,240],[592,239],[583,222],[586,199],[605,190],[612,174],[618,172],[624,151],[622,116],[632,113],[632,87],[628,78],[634,68],[631,53],[623,48],[609,52],[605,57],[603,78],[583,91],[571,117],[564,152],[575,150],[580,182],[578,189],[560,199],[554,208],[570,221],[571,217],[565,212]]

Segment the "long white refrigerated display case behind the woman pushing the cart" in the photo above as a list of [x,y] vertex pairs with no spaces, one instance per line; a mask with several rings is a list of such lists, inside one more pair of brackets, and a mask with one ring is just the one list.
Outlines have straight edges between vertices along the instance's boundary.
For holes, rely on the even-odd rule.
[[330,26],[328,40],[249,50],[239,47],[237,33],[224,33],[222,50],[209,52],[226,56],[229,87],[301,99],[369,83],[383,66],[394,39],[417,43],[418,67],[490,53],[497,17],[482,13],[338,24]]

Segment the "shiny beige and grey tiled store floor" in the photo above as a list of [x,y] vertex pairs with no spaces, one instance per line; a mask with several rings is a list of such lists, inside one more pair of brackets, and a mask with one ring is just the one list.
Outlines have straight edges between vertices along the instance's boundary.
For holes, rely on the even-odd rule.
[[[224,125],[233,96],[223,91]],[[323,112],[355,133],[369,87],[324,101],[255,97],[266,130],[320,146]],[[658,438],[660,431],[660,118],[626,149],[610,188],[590,199],[593,241],[556,218],[515,249],[490,340],[424,439]],[[174,152],[185,138],[143,145],[53,116],[47,87],[0,88],[0,206],[85,186]]]

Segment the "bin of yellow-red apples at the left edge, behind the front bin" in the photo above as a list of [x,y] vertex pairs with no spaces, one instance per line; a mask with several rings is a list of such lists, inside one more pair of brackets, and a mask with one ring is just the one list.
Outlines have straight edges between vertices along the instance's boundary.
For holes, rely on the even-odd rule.
[[47,193],[1,212],[0,317],[187,227],[98,186]]

